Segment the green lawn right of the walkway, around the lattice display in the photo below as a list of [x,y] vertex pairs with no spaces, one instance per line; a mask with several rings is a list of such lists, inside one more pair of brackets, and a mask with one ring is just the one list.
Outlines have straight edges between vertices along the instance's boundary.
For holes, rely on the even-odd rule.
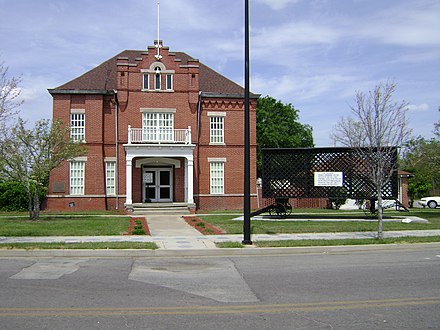
[[[440,209],[413,209],[409,213],[387,210],[385,217],[417,216],[429,223],[384,222],[384,230],[429,230],[440,229]],[[233,220],[236,215],[203,215],[203,220],[211,223],[228,234],[241,234],[243,222]],[[360,221],[308,221],[305,219],[370,219],[370,222]],[[333,233],[354,231],[376,231],[377,220],[365,217],[363,212],[336,210],[306,210],[296,209],[288,218],[292,221],[258,221],[252,220],[252,234],[284,234],[284,233]]]

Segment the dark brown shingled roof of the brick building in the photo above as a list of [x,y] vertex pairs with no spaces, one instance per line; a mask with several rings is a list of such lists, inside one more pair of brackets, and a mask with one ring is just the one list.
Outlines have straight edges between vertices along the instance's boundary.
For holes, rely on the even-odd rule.
[[[124,58],[124,63],[137,64],[139,58],[145,55],[145,50],[124,50],[83,75],[54,89],[49,89],[51,94],[64,93],[93,93],[102,94],[117,89],[116,75],[118,59]],[[181,65],[188,65],[194,59],[186,53],[175,52],[175,58],[181,60]],[[119,60],[120,61],[120,60]],[[193,65],[194,62],[191,62]],[[235,96],[243,97],[244,88],[226,78],[201,62],[199,66],[200,91],[205,96]],[[258,97],[251,94],[251,97]]]

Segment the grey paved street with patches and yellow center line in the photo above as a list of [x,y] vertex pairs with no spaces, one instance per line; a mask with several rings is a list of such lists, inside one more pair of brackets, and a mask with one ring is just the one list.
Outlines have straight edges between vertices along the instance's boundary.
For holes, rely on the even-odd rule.
[[272,256],[2,258],[1,329],[438,329],[438,244]]

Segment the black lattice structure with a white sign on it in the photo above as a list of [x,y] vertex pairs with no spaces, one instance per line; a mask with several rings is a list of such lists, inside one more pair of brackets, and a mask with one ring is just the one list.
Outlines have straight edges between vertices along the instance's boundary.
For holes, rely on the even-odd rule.
[[[384,199],[397,199],[397,148],[367,153],[354,148],[263,149],[264,198],[377,199],[369,157],[382,157],[391,179],[382,187]],[[321,182],[334,177],[336,182]],[[333,181],[335,179],[333,178]],[[338,181],[339,180],[339,181]]]

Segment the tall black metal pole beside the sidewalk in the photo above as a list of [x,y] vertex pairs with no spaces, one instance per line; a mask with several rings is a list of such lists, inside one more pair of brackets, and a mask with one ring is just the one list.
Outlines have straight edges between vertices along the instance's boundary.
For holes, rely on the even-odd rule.
[[244,1],[244,219],[243,244],[251,241],[250,187],[250,102],[249,102],[249,0]]

